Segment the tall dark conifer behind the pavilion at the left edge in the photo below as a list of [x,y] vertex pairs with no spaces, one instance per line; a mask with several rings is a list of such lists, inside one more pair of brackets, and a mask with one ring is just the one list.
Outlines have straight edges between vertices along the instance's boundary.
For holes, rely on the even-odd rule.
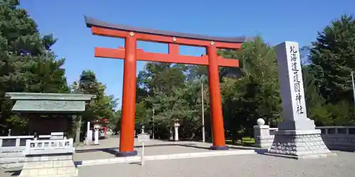
[[27,11],[18,1],[0,5],[0,127],[26,130],[26,118],[13,115],[13,103],[6,92],[68,93],[70,90],[62,68],[65,59],[57,59],[50,50],[53,35],[40,35]]

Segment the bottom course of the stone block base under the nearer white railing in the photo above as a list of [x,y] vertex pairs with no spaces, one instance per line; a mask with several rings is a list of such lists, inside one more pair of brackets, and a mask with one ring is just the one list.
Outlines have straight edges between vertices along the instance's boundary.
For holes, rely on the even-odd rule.
[[76,176],[77,169],[72,167],[48,168],[48,169],[23,169],[19,176],[40,177],[40,176]]

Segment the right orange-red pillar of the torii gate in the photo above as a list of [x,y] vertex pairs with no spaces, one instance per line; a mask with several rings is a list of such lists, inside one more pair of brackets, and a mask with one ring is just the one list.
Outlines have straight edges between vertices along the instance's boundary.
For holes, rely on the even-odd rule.
[[211,122],[214,150],[226,150],[226,142],[224,139],[224,124],[222,115],[222,98],[219,86],[219,69],[217,62],[217,48],[211,42],[207,47],[208,55],[208,79],[209,79],[209,99],[211,102]]

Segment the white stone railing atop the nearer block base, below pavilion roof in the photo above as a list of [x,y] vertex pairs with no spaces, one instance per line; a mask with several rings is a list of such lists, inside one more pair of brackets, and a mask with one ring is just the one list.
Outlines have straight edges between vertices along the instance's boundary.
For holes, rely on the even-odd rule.
[[48,139],[48,140],[31,140],[26,141],[26,149],[24,155],[34,154],[72,154],[75,152],[73,139]]

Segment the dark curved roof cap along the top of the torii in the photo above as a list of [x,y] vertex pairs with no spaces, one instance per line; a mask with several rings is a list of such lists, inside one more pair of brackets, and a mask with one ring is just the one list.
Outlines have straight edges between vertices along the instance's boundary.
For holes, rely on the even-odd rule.
[[212,41],[218,41],[218,42],[242,43],[242,42],[246,42],[246,40],[248,40],[248,38],[246,38],[246,36],[214,37],[214,36],[209,36],[209,35],[196,35],[196,34],[190,34],[190,33],[179,33],[179,32],[172,32],[172,31],[165,31],[165,30],[154,30],[154,29],[150,29],[150,28],[132,27],[129,25],[112,24],[112,23],[107,23],[104,21],[99,21],[95,18],[90,18],[88,16],[84,16],[84,19],[85,19],[85,23],[87,24],[88,28],[91,28],[92,26],[96,26],[96,27],[110,28],[110,29],[115,29],[115,30],[132,31],[132,32],[136,32],[136,33],[147,33],[147,34],[152,34],[152,35],[165,35],[165,36],[171,36],[171,37],[177,37],[177,38],[190,38],[190,39],[196,39],[196,40],[212,40]]

